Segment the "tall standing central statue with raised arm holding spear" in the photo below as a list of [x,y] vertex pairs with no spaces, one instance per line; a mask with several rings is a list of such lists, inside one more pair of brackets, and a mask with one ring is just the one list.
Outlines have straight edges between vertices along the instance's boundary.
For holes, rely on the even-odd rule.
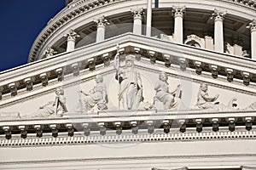
[[134,68],[134,56],[127,55],[125,66],[120,67],[119,55],[114,59],[116,80],[119,82],[119,109],[136,110],[143,101],[143,84],[141,75]]

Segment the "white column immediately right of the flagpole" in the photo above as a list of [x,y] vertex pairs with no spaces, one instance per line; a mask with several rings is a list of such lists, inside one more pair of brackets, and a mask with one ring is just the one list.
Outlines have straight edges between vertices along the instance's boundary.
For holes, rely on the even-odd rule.
[[174,35],[173,40],[177,43],[183,43],[183,14],[185,7],[172,7],[174,14]]

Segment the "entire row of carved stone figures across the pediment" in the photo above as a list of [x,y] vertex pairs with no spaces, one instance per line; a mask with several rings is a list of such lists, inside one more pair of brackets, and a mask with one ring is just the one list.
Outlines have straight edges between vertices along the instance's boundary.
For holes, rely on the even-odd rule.
[[[184,105],[181,100],[181,85],[177,85],[177,88],[173,87],[171,83],[168,82],[168,77],[165,72],[160,72],[158,80],[154,83],[154,89],[150,86],[146,87],[148,94],[145,95],[145,100],[152,102],[144,102],[143,98],[143,80],[140,72],[135,69],[134,66],[134,56],[128,55],[125,58],[125,65],[119,65],[119,59],[114,60],[114,68],[117,71],[116,79],[119,81],[119,88],[114,88],[118,92],[119,109],[123,110],[169,110],[177,111],[181,110],[199,110],[201,112],[205,111],[255,111],[256,102],[248,105],[244,108],[239,108],[237,104],[237,99],[235,97],[226,99],[227,104],[219,103],[217,101],[219,95],[210,95],[208,93],[207,83],[201,83],[195,107],[188,107]],[[103,82],[102,75],[96,75],[95,77],[96,85],[90,89],[88,92],[84,90],[79,91],[79,94],[83,94],[82,99],[77,99],[78,102],[74,106],[73,112],[90,112],[90,111],[102,111],[115,109],[117,102],[110,103],[108,105],[108,90],[106,84]],[[153,81],[153,80],[152,80]],[[144,82],[145,83],[145,82]],[[146,84],[146,83],[145,83]],[[173,84],[177,84],[174,82]],[[173,89],[174,91],[170,91]],[[186,89],[183,89],[184,91]],[[77,92],[77,91],[76,91]],[[155,92],[155,94],[153,94]],[[185,92],[189,92],[188,90]],[[151,94],[152,93],[152,94]],[[185,95],[187,93],[184,93]],[[116,97],[115,95],[112,97]],[[185,100],[187,96],[183,96]],[[192,98],[193,99],[193,98]],[[221,100],[224,102],[224,100]],[[113,105],[112,105],[113,104]],[[77,107],[76,107],[77,106]],[[85,110],[84,110],[85,109]],[[47,104],[39,107],[38,111],[34,111],[31,115],[22,116],[22,112],[0,112],[0,119],[19,119],[21,118],[41,118],[41,117],[55,117],[63,116],[67,112],[66,98],[64,97],[64,91],[62,88],[55,89],[55,100],[49,101]]]

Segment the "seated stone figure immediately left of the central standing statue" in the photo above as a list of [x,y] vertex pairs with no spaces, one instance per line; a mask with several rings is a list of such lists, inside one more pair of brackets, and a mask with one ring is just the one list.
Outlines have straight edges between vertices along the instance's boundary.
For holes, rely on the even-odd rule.
[[[107,110],[108,109],[108,94],[102,75],[95,77],[96,86],[88,93],[80,91],[84,94],[83,103],[86,111],[92,110]],[[95,108],[96,107],[96,108]]]

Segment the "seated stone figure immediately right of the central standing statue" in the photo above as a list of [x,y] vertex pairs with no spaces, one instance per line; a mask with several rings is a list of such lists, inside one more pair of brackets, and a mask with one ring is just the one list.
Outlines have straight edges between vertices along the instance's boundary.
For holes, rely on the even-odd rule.
[[176,90],[171,93],[169,92],[168,77],[165,72],[161,72],[159,75],[158,82],[154,86],[154,106],[160,110],[175,110],[178,108],[180,101],[180,85],[177,86]]

